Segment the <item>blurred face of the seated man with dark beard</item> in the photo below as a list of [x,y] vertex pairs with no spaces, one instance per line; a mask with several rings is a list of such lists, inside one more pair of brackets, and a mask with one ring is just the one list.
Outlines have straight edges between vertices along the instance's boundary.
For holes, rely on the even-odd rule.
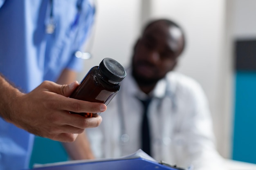
[[182,31],[163,21],[150,25],[135,45],[132,74],[140,84],[155,84],[173,70],[184,47]]

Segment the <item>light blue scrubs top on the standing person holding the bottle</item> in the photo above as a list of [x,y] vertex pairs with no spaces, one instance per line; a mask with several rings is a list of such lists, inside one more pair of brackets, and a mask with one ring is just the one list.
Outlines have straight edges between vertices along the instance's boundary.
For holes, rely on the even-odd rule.
[[[88,0],[0,0],[0,73],[27,93],[64,68],[79,71],[94,20]],[[52,13],[52,14],[51,14]],[[45,33],[50,18],[56,26]],[[82,50],[81,50],[82,51]],[[28,168],[34,135],[0,118],[0,170]]]

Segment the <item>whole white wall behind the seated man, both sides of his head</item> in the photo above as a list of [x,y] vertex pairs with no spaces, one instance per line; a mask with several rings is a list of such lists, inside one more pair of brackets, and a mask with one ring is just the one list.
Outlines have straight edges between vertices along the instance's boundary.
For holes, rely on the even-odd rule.
[[[202,85],[213,115],[220,154],[230,153],[231,62],[225,58],[225,0],[98,0],[97,28],[91,60],[85,62],[81,79],[104,57],[123,65],[130,62],[141,23],[167,17],[186,32],[187,46],[178,71]],[[224,96],[225,95],[225,96]]]

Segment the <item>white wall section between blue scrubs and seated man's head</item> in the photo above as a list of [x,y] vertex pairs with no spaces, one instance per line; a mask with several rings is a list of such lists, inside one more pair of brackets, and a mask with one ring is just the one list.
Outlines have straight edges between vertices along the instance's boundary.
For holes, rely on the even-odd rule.
[[140,0],[97,0],[97,18],[92,58],[85,60],[84,72],[97,66],[105,57],[110,57],[123,65],[130,62],[133,42],[139,34]]

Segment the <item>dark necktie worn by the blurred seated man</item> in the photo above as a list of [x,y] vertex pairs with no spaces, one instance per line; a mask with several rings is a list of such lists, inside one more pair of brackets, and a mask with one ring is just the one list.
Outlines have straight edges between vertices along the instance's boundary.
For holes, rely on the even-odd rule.
[[150,131],[149,131],[149,124],[148,124],[148,105],[151,99],[141,100],[144,106],[143,118],[141,122],[141,149],[150,155]]

